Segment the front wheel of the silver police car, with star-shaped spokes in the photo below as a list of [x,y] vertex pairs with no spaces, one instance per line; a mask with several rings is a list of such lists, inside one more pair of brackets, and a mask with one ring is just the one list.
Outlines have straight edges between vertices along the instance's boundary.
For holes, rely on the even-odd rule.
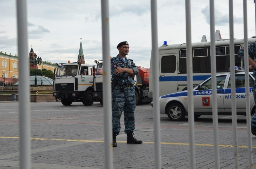
[[186,113],[181,104],[173,103],[167,108],[167,115],[172,121],[182,121],[184,120]]

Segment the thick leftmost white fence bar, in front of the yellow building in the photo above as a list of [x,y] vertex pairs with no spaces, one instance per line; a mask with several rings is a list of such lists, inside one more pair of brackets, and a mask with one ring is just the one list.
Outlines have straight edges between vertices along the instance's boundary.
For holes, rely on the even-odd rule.
[[18,27],[18,60],[19,86],[18,92],[20,117],[20,169],[31,168],[31,128],[30,128],[30,85],[29,60],[27,39],[27,1],[16,0],[17,27]]

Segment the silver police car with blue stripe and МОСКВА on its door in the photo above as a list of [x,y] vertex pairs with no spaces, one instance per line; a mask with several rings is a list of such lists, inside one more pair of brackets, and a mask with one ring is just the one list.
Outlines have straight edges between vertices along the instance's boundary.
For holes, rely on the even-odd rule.
[[[240,69],[240,70],[238,70]],[[236,87],[236,112],[238,115],[245,115],[245,72],[240,67],[235,68]],[[231,114],[231,74],[224,73],[217,75],[217,104],[219,115]],[[251,114],[255,112],[253,97],[254,76],[249,73],[250,83],[250,109]],[[201,115],[212,115],[212,78],[208,78],[193,88],[194,117]],[[188,116],[187,90],[161,96],[160,113],[168,115],[172,121],[182,121]]]

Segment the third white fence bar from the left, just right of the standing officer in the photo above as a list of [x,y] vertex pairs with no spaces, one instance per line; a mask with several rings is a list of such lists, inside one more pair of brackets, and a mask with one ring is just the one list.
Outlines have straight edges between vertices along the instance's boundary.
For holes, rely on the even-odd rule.
[[161,169],[161,130],[160,130],[160,105],[159,105],[159,52],[158,52],[158,28],[157,28],[157,4],[156,0],[151,0],[151,35],[153,56],[153,85],[154,85],[154,146],[155,146],[155,169]]

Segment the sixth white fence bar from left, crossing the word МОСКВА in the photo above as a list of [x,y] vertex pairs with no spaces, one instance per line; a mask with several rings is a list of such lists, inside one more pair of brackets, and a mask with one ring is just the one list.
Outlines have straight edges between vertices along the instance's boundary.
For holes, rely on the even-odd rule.
[[233,151],[234,168],[239,168],[238,163],[238,139],[237,139],[237,118],[236,118],[236,91],[235,91],[235,47],[234,47],[234,19],[233,0],[229,0],[229,53],[230,53],[230,80],[231,80],[231,109],[233,128]]

